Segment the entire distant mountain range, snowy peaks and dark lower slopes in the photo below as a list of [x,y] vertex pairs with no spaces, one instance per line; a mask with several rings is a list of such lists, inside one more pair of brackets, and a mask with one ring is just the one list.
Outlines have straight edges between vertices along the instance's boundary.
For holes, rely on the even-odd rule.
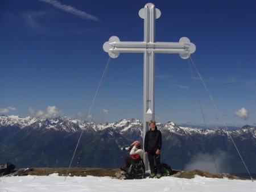
[[[201,155],[214,155],[219,170],[246,172],[234,141],[247,166],[256,172],[256,127],[244,126],[228,131],[182,127],[173,122],[157,123],[156,126],[163,138],[161,160],[176,169],[186,168]],[[2,115],[0,163],[10,161],[28,167],[68,166],[83,131],[77,148],[79,153],[75,155],[77,159],[82,154],[80,166],[117,168],[127,155],[119,147],[130,145],[134,140],[142,141],[142,129],[138,119],[96,124],[68,117],[38,119]],[[205,159],[200,160],[199,165],[201,161],[205,162]],[[212,163],[205,162],[207,166]]]

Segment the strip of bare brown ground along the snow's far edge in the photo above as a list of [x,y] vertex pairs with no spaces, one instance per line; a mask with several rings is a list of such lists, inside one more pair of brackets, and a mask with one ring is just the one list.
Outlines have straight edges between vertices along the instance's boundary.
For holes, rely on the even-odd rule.
[[[104,168],[34,168],[22,175],[32,175],[32,176],[48,176],[49,174],[58,173],[59,176],[96,176],[96,177],[104,177],[109,176],[113,178],[120,178],[120,169],[104,169]],[[237,177],[232,174],[216,174],[216,173],[208,173],[204,172],[203,170],[195,169],[191,172],[184,172],[181,170],[176,170],[175,174],[172,174],[171,177],[178,177],[178,178],[194,178],[195,175],[202,176],[202,177],[209,177],[209,178],[229,178],[229,179],[239,179],[245,180],[245,178]]]

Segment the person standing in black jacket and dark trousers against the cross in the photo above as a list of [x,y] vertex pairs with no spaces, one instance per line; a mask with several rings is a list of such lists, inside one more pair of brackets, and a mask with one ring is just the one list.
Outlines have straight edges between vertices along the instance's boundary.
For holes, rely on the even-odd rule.
[[144,140],[144,151],[148,156],[148,162],[150,164],[150,178],[155,177],[154,161],[156,164],[156,177],[161,177],[160,168],[160,150],[162,147],[162,133],[155,126],[155,121],[150,121],[150,130],[146,132]]

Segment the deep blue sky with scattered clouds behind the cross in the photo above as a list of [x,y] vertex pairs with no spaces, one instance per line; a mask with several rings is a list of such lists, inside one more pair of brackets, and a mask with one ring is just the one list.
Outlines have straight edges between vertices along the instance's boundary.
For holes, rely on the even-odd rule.
[[[146,3],[161,11],[155,40],[196,45],[192,60],[227,126],[256,125],[256,1],[3,0],[0,114],[86,119],[113,35],[143,41]],[[195,70],[194,76],[197,76]],[[156,54],[156,122],[222,125],[188,60]],[[199,98],[197,97],[197,93]],[[95,122],[143,120],[143,54],[111,59],[93,105]]]

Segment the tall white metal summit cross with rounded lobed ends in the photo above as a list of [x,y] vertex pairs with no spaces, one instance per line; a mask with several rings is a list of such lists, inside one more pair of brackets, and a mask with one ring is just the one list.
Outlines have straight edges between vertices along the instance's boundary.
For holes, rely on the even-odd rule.
[[[120,41],[117,36],[112,36],[103,45],[104,51],[112,58],[117,58],[119,53],[144,53],[143,147],[144,136],[149,128],[148,122],[155,119],[155,53],[179,53],[182,59],[188,59],[196,51],[195,44],[187,37],[181,37],[179,43],[155,42],[155,19],[160,15],[160,10],[154,4],[147,3],[139,10],[139,16],[144,19],[144,41]],[[143,159],[148,170],[145,154]]]

